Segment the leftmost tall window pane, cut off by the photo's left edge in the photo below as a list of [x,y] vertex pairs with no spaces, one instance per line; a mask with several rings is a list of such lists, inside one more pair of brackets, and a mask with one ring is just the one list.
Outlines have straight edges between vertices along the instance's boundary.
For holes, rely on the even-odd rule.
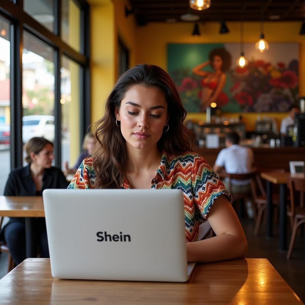
[[10,172],[10,25],[0,18],[0,192]]

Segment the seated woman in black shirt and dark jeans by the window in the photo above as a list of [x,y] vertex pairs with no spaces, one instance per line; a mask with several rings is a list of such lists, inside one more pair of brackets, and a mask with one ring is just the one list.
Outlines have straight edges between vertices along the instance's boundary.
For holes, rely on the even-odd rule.
[[[5,185],[4,196],[41,196],[46,188],[66,188],[63,172],[51,165],[53,144],[45,138],[31,138],[25,145],[28,165],[12,170]],[[40,256],[49,257],[45,218],[35,220],[35,232]],[[13,217],[0,231],[0,240],[9,247],[13,260],[19,265],[25,260],[25,220]]]

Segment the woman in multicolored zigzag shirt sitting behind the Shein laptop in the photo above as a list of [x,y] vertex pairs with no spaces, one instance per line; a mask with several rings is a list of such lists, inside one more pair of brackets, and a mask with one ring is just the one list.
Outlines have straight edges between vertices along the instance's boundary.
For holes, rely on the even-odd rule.
[[[125,72],[95,124],[92,158],[68,188],[178,188],[184,194],[188,261],[245,257],[247,242],[226,191],[211,167],[192,152],[194,134],[170,76],[138,65]],[[198,240],[208,220],[217,236]]]

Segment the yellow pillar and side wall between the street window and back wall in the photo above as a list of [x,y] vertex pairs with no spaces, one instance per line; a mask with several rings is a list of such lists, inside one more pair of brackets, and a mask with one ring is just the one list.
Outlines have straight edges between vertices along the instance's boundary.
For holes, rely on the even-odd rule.
[[135,65],[134,16],[125,17],[127,0],[89,0],[91,28],[91,122],[102,117],[106,98],[117,79],[118,35]]

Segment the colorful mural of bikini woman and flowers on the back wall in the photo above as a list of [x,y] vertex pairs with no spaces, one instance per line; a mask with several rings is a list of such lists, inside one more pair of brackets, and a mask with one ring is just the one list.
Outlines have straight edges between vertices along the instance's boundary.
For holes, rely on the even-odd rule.
[[245,68],[236,65],[239,55],[233,43],[167,46],[168,72],[188,112],[211,103],[223,112],[285,112],[297,104],[297,43],[271,43],[265,53],[245,44]]

